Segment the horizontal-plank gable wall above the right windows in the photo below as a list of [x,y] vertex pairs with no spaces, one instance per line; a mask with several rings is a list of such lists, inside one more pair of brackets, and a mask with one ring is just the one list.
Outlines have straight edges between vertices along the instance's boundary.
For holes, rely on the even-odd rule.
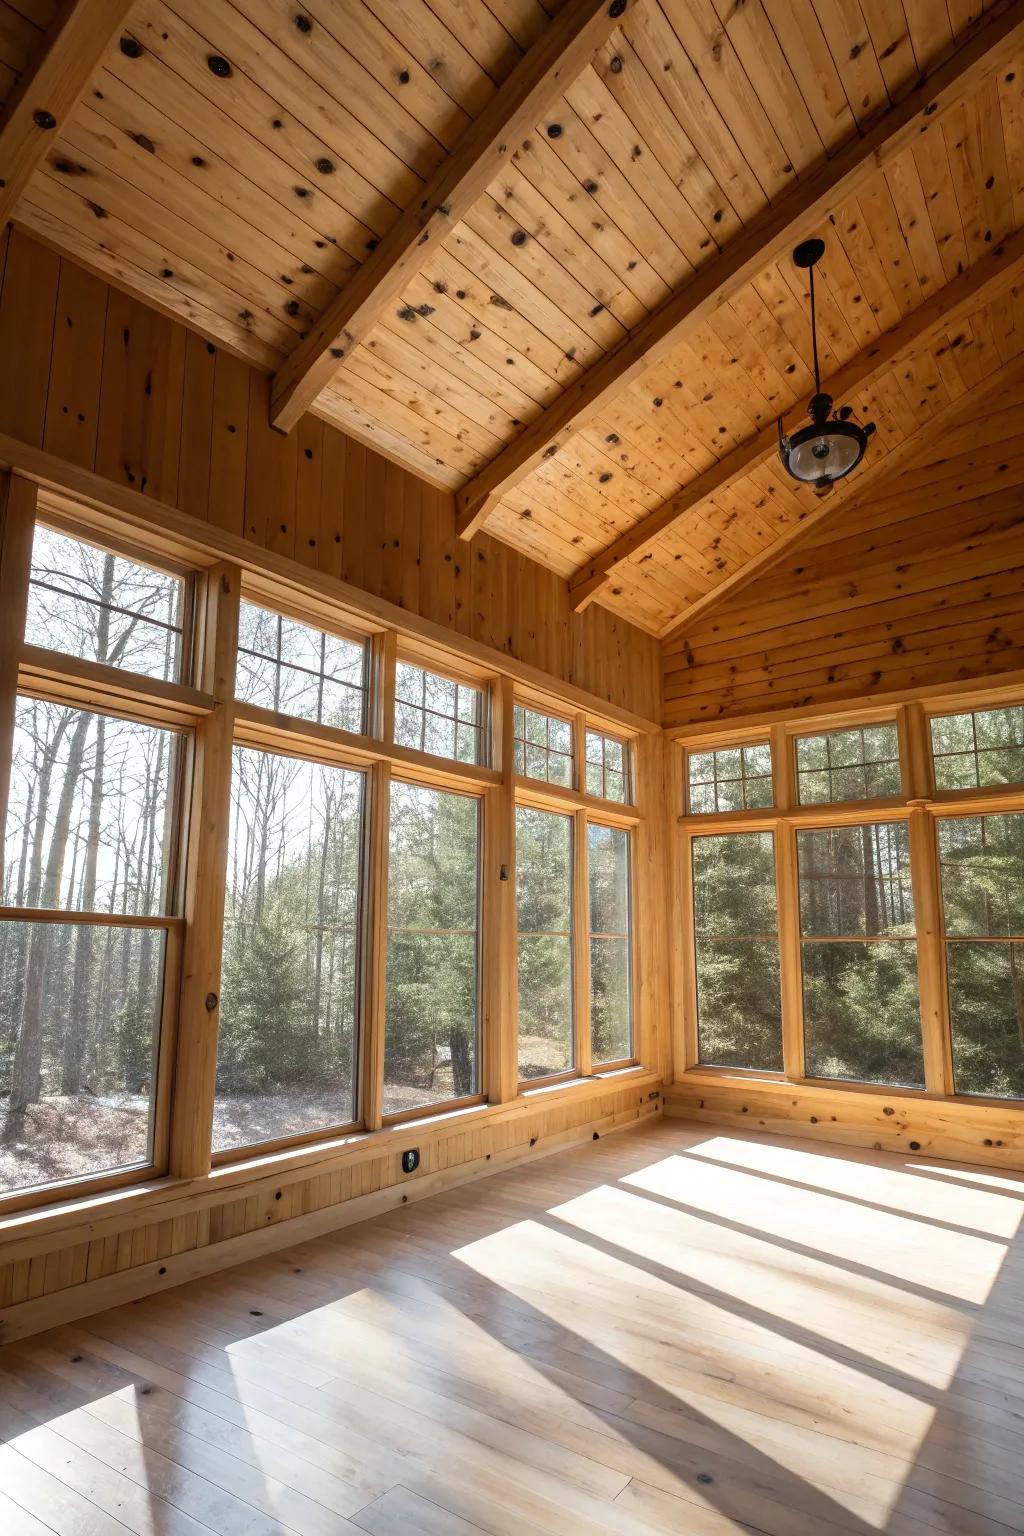
[[665,647],[666,725],[1021,667],[1024,379]]

